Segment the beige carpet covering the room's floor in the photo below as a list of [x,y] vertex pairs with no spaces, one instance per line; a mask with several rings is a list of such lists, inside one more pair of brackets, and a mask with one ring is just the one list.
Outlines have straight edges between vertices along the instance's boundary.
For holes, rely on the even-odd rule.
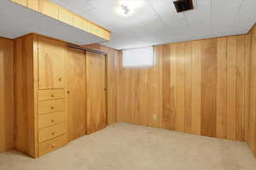
[[0,170],[255,170],[247,144],[116,123],[36,160],[9,151]]

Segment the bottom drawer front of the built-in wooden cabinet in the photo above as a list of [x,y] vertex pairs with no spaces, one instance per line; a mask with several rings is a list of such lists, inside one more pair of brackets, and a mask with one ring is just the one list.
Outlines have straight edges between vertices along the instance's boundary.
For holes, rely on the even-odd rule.
[[42,143],[45,140],[54,139],[58,136],[61,136],[61,134],[65,133],[67,133],[66,122],[57,124],[52,127],[44,127],[39,129],[38,131],[38,142]]

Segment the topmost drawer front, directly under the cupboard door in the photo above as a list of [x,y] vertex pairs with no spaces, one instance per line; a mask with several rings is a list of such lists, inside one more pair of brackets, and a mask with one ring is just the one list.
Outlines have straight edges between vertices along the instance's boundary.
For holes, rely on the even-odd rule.
[[64,89],[55,89],[55,90],[39,90],[38,91],[38,100],[47,100],[47,99],[61,99],[65,98]]

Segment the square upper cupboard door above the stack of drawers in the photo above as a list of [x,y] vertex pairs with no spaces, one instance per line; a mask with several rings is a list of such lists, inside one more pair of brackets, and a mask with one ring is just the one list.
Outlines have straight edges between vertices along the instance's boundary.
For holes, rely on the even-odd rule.
[[65,88],[66,55],[64,42],[38,37],[39,89]]

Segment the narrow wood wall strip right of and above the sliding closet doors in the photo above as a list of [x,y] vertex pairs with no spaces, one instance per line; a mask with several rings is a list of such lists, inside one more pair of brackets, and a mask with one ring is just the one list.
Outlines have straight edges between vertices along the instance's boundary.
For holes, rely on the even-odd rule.
[[98,49],[108,53],[107,59],[107,88],[108,88],[108,125],[117,122],[117,90],[119,75],[119,51],[104,47],[99,44],[84,46],[85,48]]

